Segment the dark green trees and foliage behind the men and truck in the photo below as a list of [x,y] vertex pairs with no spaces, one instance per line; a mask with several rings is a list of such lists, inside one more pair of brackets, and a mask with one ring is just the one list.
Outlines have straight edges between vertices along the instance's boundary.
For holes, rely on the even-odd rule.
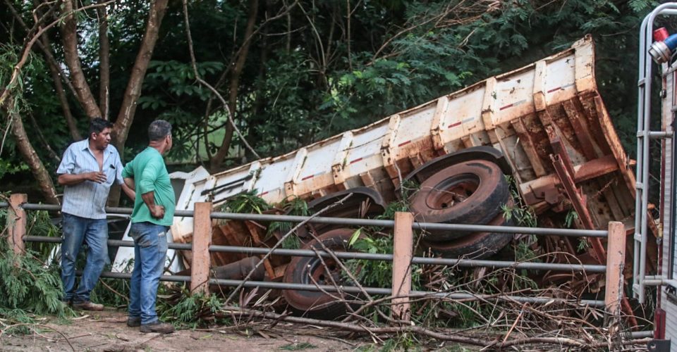
[[61,154],[98,115],[115,123],[123,162],[163,118],[174,126],[171,170],[214,172],[366,125],[585,34],[632,155],[639,26],[659,3],[0,1],[0,190],[49,203],[61,193]]

